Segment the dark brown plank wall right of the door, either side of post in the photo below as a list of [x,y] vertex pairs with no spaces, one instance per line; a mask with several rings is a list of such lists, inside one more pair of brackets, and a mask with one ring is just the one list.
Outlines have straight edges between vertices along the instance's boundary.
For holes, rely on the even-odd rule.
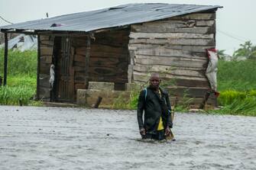
[[89,50],[89,81],[128,82],[128,34],[128,30],[94,34],[89,48],[86,47],[87,37],[73,37],[75,91],[86,88],[86,50]]

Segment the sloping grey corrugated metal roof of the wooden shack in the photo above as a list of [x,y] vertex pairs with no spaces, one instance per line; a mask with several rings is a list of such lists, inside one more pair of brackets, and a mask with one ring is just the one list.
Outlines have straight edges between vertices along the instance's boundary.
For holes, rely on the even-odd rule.
[[[180,4],[128,4],[96,11],[66,14],[53,18],[11,24],[1,29],[92,31],[109,27],[122,27],[147,21],[156,21],[197,11],[222,8],[218,5]],[[51,27],[60,24],[59,27]]]

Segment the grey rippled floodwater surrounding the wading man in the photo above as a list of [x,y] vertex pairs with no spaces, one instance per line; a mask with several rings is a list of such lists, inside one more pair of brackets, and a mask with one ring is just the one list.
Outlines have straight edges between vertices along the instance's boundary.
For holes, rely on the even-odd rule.
[[256,117],[174,119],[141,142],[136,111],[0,106],[0,169],[256,169]]

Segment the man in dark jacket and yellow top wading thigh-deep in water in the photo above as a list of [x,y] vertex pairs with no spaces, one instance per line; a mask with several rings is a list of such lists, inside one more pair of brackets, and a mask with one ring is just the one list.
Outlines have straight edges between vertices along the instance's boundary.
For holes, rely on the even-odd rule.
[[159,87],[159,74],[151,74],[149,81],[150,85],[141,91],[138,98],[138,127],[142,139],[165,140],[173,127],[169,96]]

